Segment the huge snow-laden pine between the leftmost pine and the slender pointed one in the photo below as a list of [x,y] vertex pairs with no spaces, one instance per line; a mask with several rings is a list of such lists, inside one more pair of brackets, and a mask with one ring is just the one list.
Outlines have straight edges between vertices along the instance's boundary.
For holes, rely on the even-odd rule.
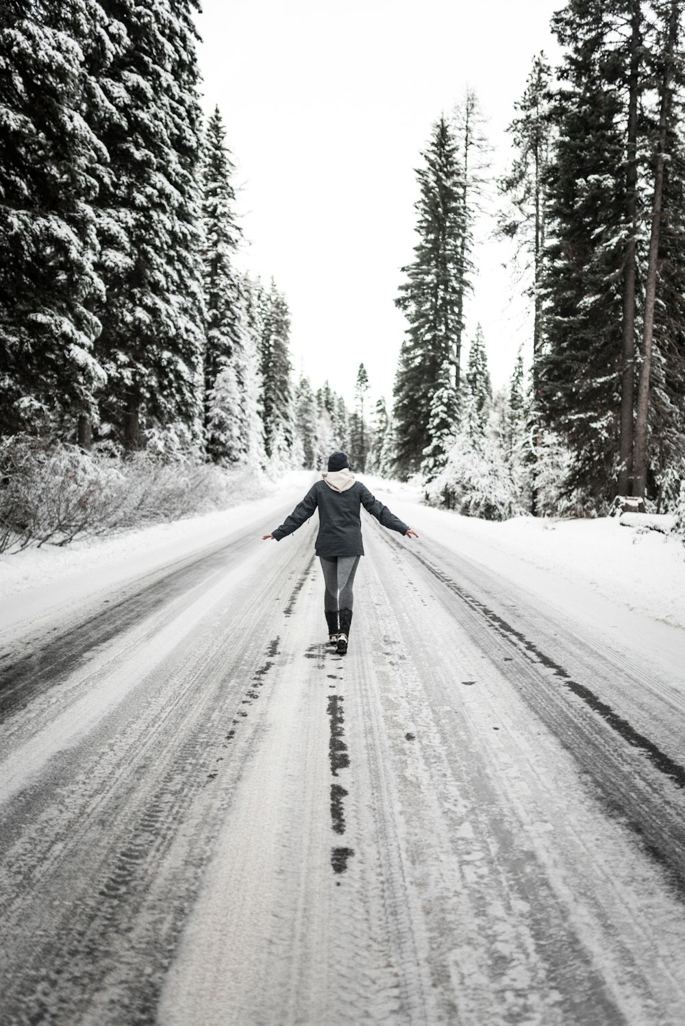
[[204,309],[196,0],[100,0],[117,40],[103,79],[97,353],[103,407],[130,449],[149,426],[199,437]]

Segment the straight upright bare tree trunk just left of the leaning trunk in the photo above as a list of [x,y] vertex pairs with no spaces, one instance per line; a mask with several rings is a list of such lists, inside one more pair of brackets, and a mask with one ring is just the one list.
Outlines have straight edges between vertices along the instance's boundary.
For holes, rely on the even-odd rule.
[[631,17],[631,65],[628,79],[628,146],[626,169],[626,221],[629,238],[623,265],[623,331],[620,372],[620,443],[617,494],[631,494],[633,483],[633,410],[635,403],[635,281],[638,220],[638,73],[640,68],[640,27],[642,11],[636,2]]

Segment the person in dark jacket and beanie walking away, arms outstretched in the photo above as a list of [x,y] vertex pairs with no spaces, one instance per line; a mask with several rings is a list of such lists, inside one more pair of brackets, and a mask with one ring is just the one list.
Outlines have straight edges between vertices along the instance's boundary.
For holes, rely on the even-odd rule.
[[321,480],[310,488],[280,527],[261,537],[263,542],[268,539],[280,542],[282,538],[287,538],[297,527],[301,527],[316,509],[319,510],[319,534],[315,551],[323,569],[323,607],[328,640],[341,654],[348,650],[355,574],[359,560],[364,555],[361,506],[384,527],[396,530],[406,538],[418,538],[415,530],[407,527],[387,506],[374,499],[361,481],[356,480],[345,452],[331,452],[328,470],[321,475]]

